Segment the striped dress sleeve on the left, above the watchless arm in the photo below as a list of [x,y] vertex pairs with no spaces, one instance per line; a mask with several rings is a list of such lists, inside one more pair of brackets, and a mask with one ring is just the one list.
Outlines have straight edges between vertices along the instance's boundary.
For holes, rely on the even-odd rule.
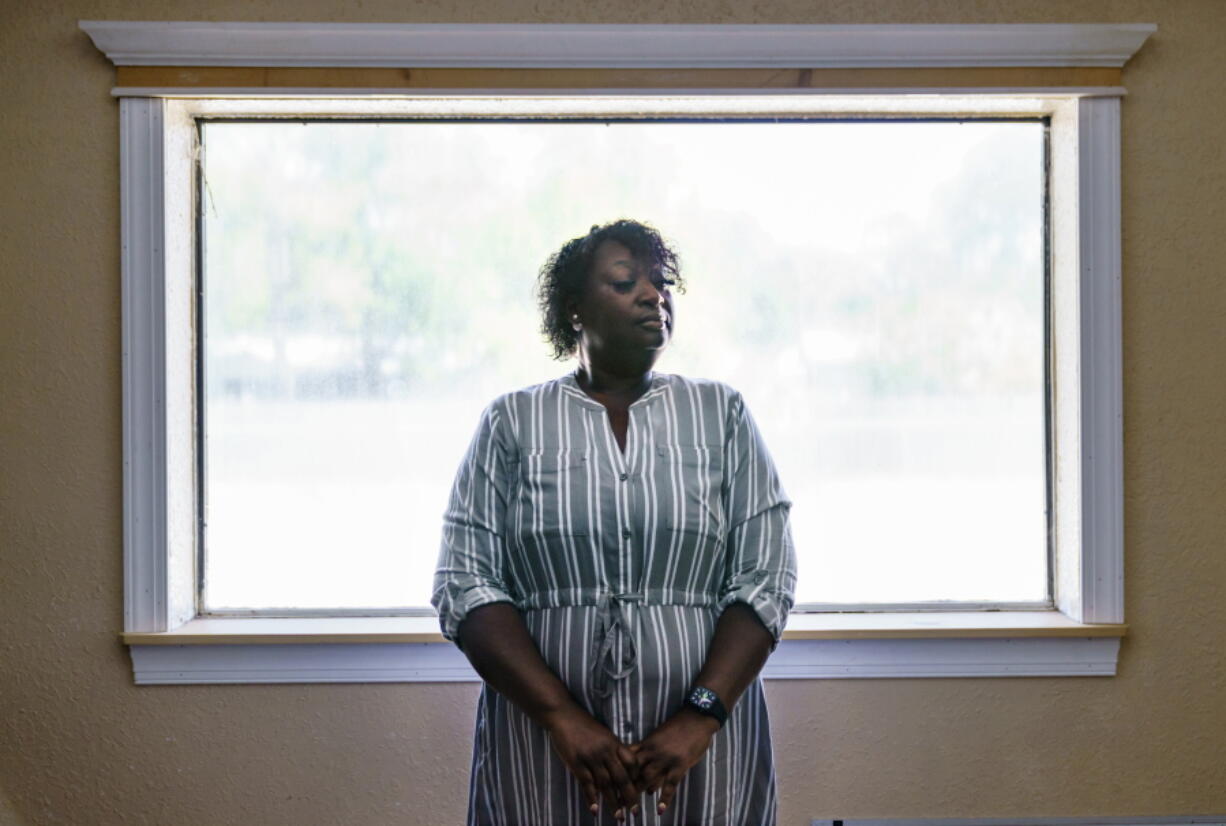
[[498,401],[482,413],[443,516],[430,604],[443,636],[460,646],[460,623],[478,605],[514,603],[506,581],[506,422]]

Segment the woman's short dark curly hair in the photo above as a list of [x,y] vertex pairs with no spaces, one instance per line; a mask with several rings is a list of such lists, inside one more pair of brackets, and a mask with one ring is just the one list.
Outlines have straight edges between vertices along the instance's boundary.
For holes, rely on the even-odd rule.
[[555,360],[570,358],[579,347],[579,333],[566,319],[566,303],[584,294],[596,248],[603,241],[624,244],[634,257],[650,262],[652,268],[674,281],[673,289],[685,292],[677,252],[653,227],[629,218],[593,224],[586,235],[570,239],[550,255],[537,278],[541,332],[553,348]]

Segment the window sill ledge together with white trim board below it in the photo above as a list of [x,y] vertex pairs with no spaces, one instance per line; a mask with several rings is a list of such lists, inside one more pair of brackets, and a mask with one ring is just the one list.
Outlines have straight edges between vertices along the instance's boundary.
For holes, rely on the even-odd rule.
[[[1112,676],[1125,631],[1059,612],[793,614],[763,676]],[[142,685],[479,680],[433,616],[197,618],[121,637]]]

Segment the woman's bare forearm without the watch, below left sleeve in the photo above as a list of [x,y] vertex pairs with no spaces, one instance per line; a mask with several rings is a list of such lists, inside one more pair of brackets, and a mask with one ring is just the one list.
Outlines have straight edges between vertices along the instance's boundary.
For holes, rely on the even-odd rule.
[[548,727],[560,712],[581,711],[544,662],[515,605],[499,602],[474,608],[460,624],[459,636],[477,674],[537,724]]

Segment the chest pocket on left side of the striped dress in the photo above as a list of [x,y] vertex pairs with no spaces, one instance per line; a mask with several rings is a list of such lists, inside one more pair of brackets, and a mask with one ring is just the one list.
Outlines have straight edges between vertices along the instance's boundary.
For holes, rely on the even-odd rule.
[[577,447],[525,447],[519,461],[519,518],[522,538],[586,537],[591,529],[587,490],[588,451]]

